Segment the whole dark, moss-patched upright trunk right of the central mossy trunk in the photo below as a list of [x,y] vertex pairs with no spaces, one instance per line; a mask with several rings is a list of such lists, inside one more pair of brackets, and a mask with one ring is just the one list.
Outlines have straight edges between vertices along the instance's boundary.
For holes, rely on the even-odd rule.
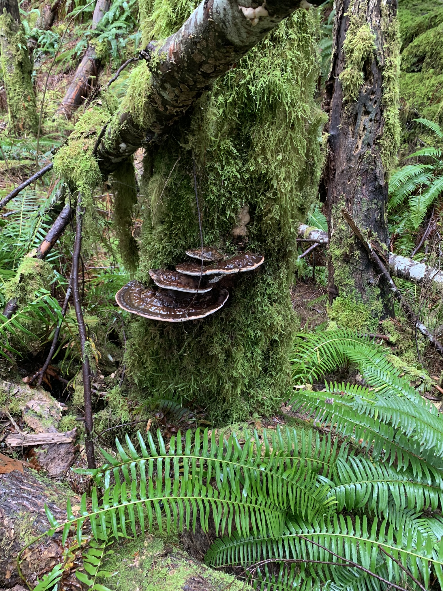
[[396,9],[396,0],[337,1],[324,97],[329,136],[320,194],[327,204],[329,297],[366,304],[374,322],[389,313],[389,291],[341,208],[388,248],[387,179],[399,147]]

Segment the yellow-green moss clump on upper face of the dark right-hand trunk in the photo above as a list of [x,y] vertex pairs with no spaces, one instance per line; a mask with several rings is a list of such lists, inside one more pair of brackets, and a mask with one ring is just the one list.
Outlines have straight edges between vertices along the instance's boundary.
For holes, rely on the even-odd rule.
[[350,15],[349,27],[343,44],[344,70],[339,79],[343,87],[344,100],[356,100],[363,86],[363,65],[374,53],[375,35],[369,24],[353,12]]

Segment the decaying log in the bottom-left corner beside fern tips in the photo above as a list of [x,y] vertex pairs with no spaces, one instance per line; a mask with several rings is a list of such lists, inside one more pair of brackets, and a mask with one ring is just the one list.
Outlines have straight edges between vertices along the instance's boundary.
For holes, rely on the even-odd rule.
[[[22,584],[17,570],[18,552],[28,541],[50,528],[44,504],[60,522],[66,519],[66,498],[71,495],[62,486],[43,479],[25,467],[0,475],[0,587]],[[75,502],[75,499],[74,499]],[[44,537],[27,548],[21,569],[30,583],[35,584],[45,573],[63,560],[60,534]]]

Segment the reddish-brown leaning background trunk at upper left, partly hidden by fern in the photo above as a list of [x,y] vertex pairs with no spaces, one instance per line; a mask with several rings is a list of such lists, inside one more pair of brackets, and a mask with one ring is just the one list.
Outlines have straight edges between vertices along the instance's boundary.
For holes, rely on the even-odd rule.
[[[110,0],[97,0],[92,15],[92,29],[97,28],[97,25],[102,20],[103,15],[108,12],[109,8]],[[95,47],[88,46],[56,114],[64,115],[66,119],[70,119],[76,107],[82,103],[82,100],[87,97],[89,91],[95,86],[99,73],[100,58],[96,54]]]

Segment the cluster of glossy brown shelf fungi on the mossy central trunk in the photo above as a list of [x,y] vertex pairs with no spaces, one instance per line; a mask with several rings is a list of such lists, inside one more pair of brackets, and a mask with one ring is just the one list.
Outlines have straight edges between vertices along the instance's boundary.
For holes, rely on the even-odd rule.
[[[169,269],[151,269],[149,275],[155,287],[145,287],[139,281],[129,281],[115,296],[123,310],[163,322],[197,320],[220,310],[229,292],[217,283],[226,275],[253,271],[265,258],[252,252],[240,252],[224,258],[211,247],[186,251],[193,262]],[[198,262],[195,262],[197,259]]]

